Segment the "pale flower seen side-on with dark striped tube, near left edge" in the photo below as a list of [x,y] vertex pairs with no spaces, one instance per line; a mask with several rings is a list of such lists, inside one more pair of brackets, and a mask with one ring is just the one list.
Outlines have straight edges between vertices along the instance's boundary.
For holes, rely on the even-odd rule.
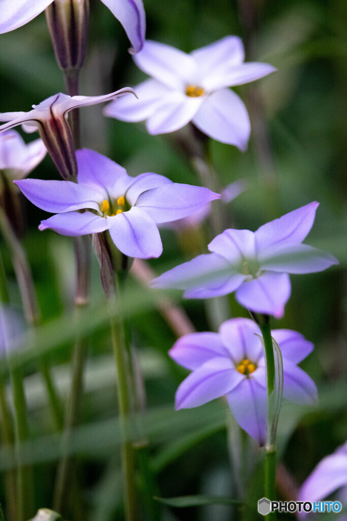
[[73,137],[67,120],[70,110],[96,105],[128,93],[135,94],[128,87],[104,96],[68,96],[59,92],[40,104],[33,105],[29,112],[0,113],[0,121],[8,121],[0,126],[0,132],[18,125],[22,125],[25,132],[37,130],[60,175],[68,179],[77,173]]

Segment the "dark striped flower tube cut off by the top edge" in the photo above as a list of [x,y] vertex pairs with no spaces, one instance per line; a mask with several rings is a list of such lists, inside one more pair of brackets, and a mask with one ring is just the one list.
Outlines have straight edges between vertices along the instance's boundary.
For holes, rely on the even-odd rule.
[[79,71],[86,53],[89,0],[54,0],[45,13],[59,67]]

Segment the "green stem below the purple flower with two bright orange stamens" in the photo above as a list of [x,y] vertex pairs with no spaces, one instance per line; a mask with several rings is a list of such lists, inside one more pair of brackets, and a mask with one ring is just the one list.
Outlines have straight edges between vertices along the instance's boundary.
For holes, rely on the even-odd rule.
[[[119,313],[122,312],[122,288],[120,280],[117,283],[117,297],[119,298]],[[126,345],[124,321],[114,320],[111,317],[112,348],[117,366],[117,394],[119,405],[119,419],[121,426],[121,459],[123,473],[124,510],[126,521],[136,521],[136,476],[134,472],[134,450],[128,436],[128,420],[132,412],[131,388],[133,375],[131,371],[130,349]]]

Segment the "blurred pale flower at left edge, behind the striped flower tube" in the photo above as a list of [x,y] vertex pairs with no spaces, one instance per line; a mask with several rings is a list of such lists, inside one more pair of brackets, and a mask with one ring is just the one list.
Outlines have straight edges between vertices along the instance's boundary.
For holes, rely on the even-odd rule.
[[0,171],[8,179],[23,179],[39,164],[47,153],[42,139],[25,144],[16,130],[0,134]]

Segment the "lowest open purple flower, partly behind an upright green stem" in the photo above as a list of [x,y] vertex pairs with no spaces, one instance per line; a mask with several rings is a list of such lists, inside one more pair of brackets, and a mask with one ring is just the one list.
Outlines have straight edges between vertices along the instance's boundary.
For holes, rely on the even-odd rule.
[[[260,329],[249,318],[224,322],[219,333],[191,333],[175,342],[169,355],[192,373],[176,392],[176,410],[198,407],[226,395],[232,413],[260,445],[266,438],[266,378]],[[283,357],[283,396],[295,403],[313,403],[317,388],[297,367],[313,350],[297,331],[277,329],[272,336]]]

